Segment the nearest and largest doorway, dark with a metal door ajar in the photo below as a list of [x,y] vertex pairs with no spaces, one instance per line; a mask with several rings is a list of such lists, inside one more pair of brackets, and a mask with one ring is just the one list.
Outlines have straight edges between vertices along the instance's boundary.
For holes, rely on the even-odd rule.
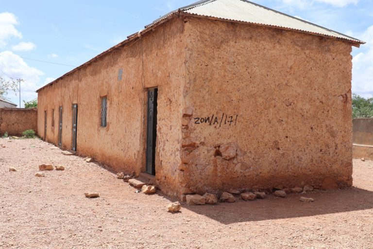
[[146,173],[155,175],[155,139],[157,137],[158,89],[148,90],[148,119],[146,143]]

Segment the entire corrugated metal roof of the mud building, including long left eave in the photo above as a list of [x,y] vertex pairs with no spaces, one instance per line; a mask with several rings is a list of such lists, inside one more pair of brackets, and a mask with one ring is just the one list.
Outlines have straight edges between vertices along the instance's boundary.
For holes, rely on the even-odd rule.
[[[127,36],[127,39],[115,45],[114,47],[100,53],[96,57],[85,62],[83,65],[65,73],[61,77],[52,81],[51,83],[40,88],[43,89],[47,86],[53,85],[58,80],[67,76],[68,74],[87,66],[90,63],[98,60],[101,56],[118,49],[119,47],[125,45],[127,42],[140,37],[142,34],[148,32],[153,27],[160,25],[164,21],[170,18],[174,18],[177,15],[191,15],[206,18],[216,18],[221,20],[237,21],[244,23],[252,23],[255,25],[262,25],[268,27],[289,29],[299,32],[304,32],[312,35],[328,36],[337,39],[352,42],[354,44],[364,44],[364,41],[356,39],[354,37],[343,35],[339,32],[321,27],[319,25],[313,24],[311,22],[289,16],[287,14],[272,10],[270,8],[264,7],[262,5],[250,2],[247,0],[201,0],[193,4],[187,5],[180,9],[171,11],[170,13],[164,15],[161,18],[154,20],[151,24],[145,26],[144,29],[136,32],[131,36]],[[37,89],[38,92],[40,89]]]

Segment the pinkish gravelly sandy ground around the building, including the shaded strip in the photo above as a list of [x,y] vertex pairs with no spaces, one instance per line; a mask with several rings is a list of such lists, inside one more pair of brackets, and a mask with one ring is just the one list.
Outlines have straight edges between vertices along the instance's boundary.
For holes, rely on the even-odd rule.
[[[373,248],[373,161],[354,160],[354,187],[287,198],[186,206],[136,194],[96,163],[38,139],[0,139],[0,248]],[[0,146],[1,147],[1,146]],[[65,171],[34,177],[41,163]],[[17,172],[9,172],[9,167]],[[98,191],[100,198],[85,198]]]

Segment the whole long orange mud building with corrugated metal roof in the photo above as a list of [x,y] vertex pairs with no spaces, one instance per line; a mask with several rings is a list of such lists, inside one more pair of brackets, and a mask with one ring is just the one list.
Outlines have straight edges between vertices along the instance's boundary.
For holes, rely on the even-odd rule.
[[38,92],[38,133],[170,196],[352,184],[352,46],[244,0],[205,0]]

